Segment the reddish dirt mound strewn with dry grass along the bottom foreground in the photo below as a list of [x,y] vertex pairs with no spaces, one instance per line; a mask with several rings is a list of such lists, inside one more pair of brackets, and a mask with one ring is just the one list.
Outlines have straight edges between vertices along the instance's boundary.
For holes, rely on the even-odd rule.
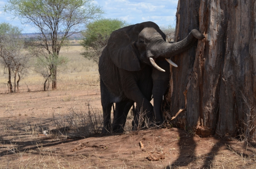
[[[14,132],[17,128],[12,130]],[[32,129],[27,132],[31,132],[27,133],[28,135],[36,133],[33,133]],[[200,139],[177,129],[144,130],[136,135],[129,133],[71,140],[71,142],[65,137],[51,139],[48,143],[38,142],[38,137],[31,137],[28,140],[33,138],[35,139],[33,146],[26,149],[11,142],[2,144],[9,155],[1,156],[0,168],[253,169],[256,166],[253,155],[255,152],[249,154],[252,150],[249,148],[248,152],[243,152],[239,142],[229,143],[217,138]],[[140,148],[139,141],[144,144],[144,148]],[[57,143],[57,146],[47,145],[51,143]],[[104,144],[106,147],[105,149],[81,147],[71,152],[72,148],[81,144]],[[148,160],[152,158],[161,159]]]

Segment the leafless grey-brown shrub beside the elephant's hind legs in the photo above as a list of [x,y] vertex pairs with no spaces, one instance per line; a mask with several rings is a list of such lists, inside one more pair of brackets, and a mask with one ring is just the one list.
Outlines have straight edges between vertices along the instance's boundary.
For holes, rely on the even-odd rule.
[[55,134],[67,135],[70,137],[88,137],[101,134],[103,127],[103,113],[97,108],[86,106],[71,107],[67,115],[57,116],[53,113],[52,121]]

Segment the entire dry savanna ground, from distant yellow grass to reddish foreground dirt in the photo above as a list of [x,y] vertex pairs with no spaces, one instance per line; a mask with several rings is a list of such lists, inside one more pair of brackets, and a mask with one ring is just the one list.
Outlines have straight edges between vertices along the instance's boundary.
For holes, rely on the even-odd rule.
[[131,131],[131,113],[123,134],[100,135],[98,66],[81,50],[77,41],[61,50],[69,62],[55,91],[51,85],[43,91],[44,78],[30,70],[20,92],[8,94],[7,77],[0,75],[1,169],[256,168],[253,143],[201,138],[171,125]]

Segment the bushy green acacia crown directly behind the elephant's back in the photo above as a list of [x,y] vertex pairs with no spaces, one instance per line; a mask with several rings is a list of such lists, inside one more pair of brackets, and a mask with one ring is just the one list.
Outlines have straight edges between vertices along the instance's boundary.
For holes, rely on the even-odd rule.
[[120,19],[103,18],[89,23],[87,30],[82,33],[85,39],[81,42],[84,46],[84,52],[81,55],[99,63],[99,56],[107,45],[110,34],[124,26],[128,24]]

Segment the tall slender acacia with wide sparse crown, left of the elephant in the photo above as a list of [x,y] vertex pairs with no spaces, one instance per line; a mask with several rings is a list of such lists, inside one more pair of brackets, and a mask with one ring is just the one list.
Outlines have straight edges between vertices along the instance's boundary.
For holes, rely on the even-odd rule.
[[[61,47],[67,38],[85,29],[85,25],[103,13],[92,0],[8,0],[6,12],[18,17],[38,31],[37,45],[48,63],[52,89],[57,89],[58,65]],[[38,55],[36,55],[38,56]],[[40,56],[41,57],[41,56]],[[57,61],[59,62],[59,61]]]

